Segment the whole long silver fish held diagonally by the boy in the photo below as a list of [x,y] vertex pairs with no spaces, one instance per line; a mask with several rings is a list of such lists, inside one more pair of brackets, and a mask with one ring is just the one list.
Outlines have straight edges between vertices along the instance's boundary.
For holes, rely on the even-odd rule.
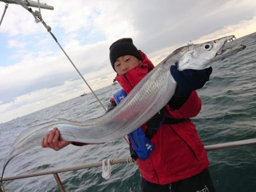
[[176,49],[148,73],[118,106],[98,118],[84,122],[58,119],[27,128],[14,141],[4,168],[15,156],[40,145],[43,136],[53,127],[58,128],[63,140],[90,144],[116,140],[134,131],[152,118],[174,95],[176,82],[170,73],[171,65],[176,64],[178,70],[208,68],[212,61],[224,59],[225,55],[233,55],[245,48],[240,45],[224,49],[224,45],[233,37]]

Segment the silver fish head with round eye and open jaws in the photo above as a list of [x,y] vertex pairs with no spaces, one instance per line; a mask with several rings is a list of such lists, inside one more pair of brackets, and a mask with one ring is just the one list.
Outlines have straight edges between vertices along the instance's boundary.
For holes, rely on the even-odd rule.
[[245,45],[224,48],[226,43],[232,41],[234,38],[234,35],[230,35],[206,43],[192,44],[180,48],[178,51],[180,58],[176,62],[177,69],[180,71],[184,69],[206,69],[210,67],[213,61],[225,59],[243,50]]

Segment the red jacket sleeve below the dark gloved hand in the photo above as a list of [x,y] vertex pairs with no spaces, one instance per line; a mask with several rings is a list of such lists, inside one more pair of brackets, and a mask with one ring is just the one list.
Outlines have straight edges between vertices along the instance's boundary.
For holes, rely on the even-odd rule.
[[[172,106],[171,106],[172,107]],[[199,114],[201,110],[201,99],[197,95],[196,91],[192,91],[188,99],[178,109],[172,109],[171,115],[175,119],[181,118],[193,118]]]

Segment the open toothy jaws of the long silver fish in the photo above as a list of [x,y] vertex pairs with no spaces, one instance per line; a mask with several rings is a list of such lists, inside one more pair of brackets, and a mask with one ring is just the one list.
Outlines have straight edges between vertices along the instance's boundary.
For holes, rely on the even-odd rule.
[[228,57],[230,55],[234,55],[237,52],[240,52],[240,51],[242,51],[243,49],[246,48],[245,45],[238,45],[237,47],[225,47],[227,43],[232,42],[234,40],[236,40],[236,37],[234,35],[228,36],[226,38],[226,40],[224,41],[223,45],[221,46],[221,48],[218,49],[214,60],[225,59],[225,57]]

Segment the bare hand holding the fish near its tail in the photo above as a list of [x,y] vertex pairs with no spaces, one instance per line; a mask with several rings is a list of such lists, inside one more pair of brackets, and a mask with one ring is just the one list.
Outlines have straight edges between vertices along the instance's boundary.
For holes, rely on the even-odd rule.
[[60,132],[56,127],[52,131],[49,131],[46,136],[43,137],[41,146],[43,148],[52,148],[55,151],[66,147],[71,144],[71,141],[60,140]]

